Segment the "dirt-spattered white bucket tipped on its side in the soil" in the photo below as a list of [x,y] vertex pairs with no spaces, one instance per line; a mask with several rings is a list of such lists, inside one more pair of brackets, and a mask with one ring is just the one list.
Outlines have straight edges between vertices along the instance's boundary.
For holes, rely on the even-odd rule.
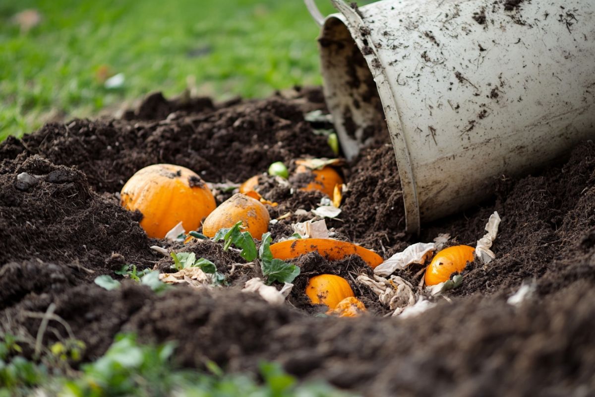
[[595,0],[305,2],[347,158],[386,117],[408,232],[595,137]]

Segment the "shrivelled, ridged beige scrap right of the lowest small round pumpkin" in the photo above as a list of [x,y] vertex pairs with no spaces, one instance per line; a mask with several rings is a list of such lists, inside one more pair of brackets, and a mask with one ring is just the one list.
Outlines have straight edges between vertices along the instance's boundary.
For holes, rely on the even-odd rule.
[[374,275],[374,279],[371,279],[362,274],[358,276],[356,282],[369,287],[378,295],[378,301],[393,310],[393,316],[401,314],[406,307],[415,304],[413,286],[399,276],[390,276],[390,279],[385,279]]

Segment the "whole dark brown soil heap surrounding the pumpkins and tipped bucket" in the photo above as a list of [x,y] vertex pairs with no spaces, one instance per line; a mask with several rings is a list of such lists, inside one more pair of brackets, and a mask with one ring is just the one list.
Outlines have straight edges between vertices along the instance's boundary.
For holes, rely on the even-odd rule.
[[[403,232],[399,176],[388,135],[340,167],[347,190],[342,212],[327,218],[333,237],[372,249],[384,259],[416,242],[448,233],[447,245],[475,245],[494,211],[502,218],[496,260],[475,261],[457,289],[430,298],[437,305],[416,317],[390,313],[377,295],[353,283],[371,269],[352,255],[328,261],[316,252],[293,261],[301,269],[284,305],[241,292],[255,276],[223,242],[149,239],[141,215],[120,206],[120,190],[140,168],[156,163],[196,171],[215,190],[261,174],[273,241],[324,197],[276,183],[262,173],[275,161],[292,171],[303,157],[334,157],[320,89],[297,89],[259,101],[214,104],[206,98],[167,101],[149,96],[120,119],[47,124],[0,144],[0,316],[4,330],[35,336],[43,314],[54,313],[86,343],[84,360],[101,356],[118,332],[142,340],[178,340],[176,359],[202,368],[213,360],[231,371],[281,362],[302,378],[322,378],[371,396],[590,395],[595,390],[595,144],[539,173],[494,179],[496,193],[460,214]],[[27,174],[30,177],[23,177]],[[20,176],[21,175],[21,176]],[[20,176],[20,177],[19,177]],[[301,211],[299,211],[301,210]],[[297,214],[296,214],[297,212]],[[171,258],[149,248],[194,252],[226,274],[229,286],[176,286],[156,294],[122,280],[125,264],[173,272]],[[234,264],[237,266],[234,267]],[[397,274],[417,286],[422,265]],[[233,270],[233,272],[232,272]],[[252,272],[252,273],[251,273]],[[233,273],[233,274],[232,274]],[[368,308],[357,318],[318,317],[303,292],[308,277],[345,277]],[[122,280],[106,290],[93,280]],[[533,293],[507,302],[522,285]],[[324,312],[324,311],[322,311]],[[58,334],[61,324],[52,324]],[[56,340],[46,334],[44,343]],[[32,355],[32,351],[25,351]]]

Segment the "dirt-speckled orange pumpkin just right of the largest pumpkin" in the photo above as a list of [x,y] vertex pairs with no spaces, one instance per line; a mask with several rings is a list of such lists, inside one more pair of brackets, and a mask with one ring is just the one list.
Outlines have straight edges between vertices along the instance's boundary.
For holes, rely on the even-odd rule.
[[250,232],[255,239],[261,239],[262,234],[267,233],[270,220],[267,208],[260,201],[237,193],[206,217],[202,224],[202,234],[215,237],[219,229],[233,227],[242,221],[243,230]]

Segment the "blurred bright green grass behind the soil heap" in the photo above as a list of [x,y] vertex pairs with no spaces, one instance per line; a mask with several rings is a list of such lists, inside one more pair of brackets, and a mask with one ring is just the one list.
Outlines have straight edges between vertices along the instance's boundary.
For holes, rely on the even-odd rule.
[[226,99],[321,84],[317,35],[302,0],[0,0],[0,141],[154,90]]

